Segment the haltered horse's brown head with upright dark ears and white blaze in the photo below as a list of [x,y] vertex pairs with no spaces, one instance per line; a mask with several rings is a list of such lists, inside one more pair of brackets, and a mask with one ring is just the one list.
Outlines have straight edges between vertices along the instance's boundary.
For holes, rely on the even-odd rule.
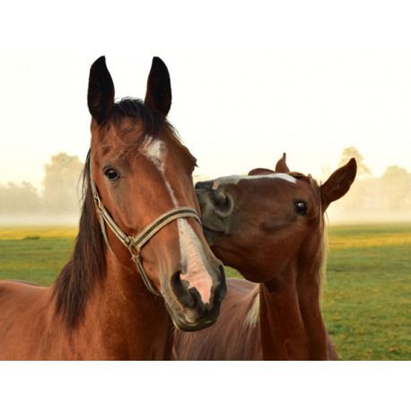
[[197,221],[191,177],[196,159],[166,119],[167,67],[154,57],[144,101],[115,102],[114,83],[100,57],[90,72],[88,106],[90,184],[106,258],[111,250],[130,275],[139,271],[147,287],[162,295],[177,327],[208,327],[218,317],[225,277]]

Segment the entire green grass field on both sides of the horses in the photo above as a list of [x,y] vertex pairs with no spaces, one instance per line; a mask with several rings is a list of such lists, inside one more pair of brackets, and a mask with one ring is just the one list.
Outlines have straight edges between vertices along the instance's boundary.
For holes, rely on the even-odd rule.
[[[75,235],[0,228],[0,279],[52,284]],[[411,360],[411,223],[331,226],[328,242],[322,307],[340,358]]]

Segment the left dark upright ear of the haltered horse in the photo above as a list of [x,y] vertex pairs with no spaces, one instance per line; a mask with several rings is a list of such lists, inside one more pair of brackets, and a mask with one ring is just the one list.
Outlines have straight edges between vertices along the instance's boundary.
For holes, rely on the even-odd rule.
[[87,103],[92,118],[101,124],[114,105],[114,83],[106,66],[106,57],[98,58],[90,68]]

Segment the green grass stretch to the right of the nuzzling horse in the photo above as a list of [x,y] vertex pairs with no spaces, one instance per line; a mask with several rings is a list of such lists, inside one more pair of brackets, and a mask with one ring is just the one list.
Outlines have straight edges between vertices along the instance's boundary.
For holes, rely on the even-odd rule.
[[411,225],[329,230],[323,316],[343,360],[411,360]]

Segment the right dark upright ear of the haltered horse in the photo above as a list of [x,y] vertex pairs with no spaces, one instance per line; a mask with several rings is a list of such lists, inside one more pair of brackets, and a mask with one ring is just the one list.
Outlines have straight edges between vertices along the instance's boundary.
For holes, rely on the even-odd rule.
[[171,108],[171,82],[167,66],[159,57],[153,57],[148,75],[144,104],[166,118]]

